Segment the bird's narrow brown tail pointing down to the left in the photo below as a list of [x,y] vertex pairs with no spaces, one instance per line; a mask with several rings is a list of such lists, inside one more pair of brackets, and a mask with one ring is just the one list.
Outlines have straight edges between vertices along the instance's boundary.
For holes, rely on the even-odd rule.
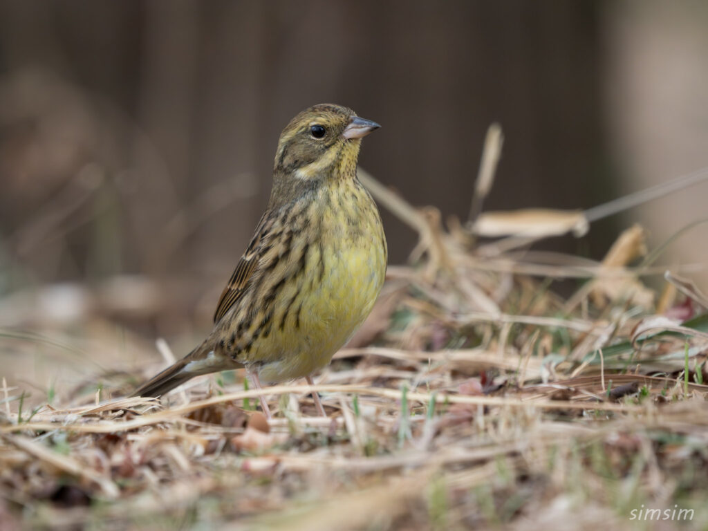
[[220,356],[217,358],[206,343],[202,343],[188,355],[185,355],[184,358],[170,365],[135,389],[135,392],[130,396],[151,396],[156,398],[195,376],[235,368],[238,368],[238,365],[224,365],[222,358]]

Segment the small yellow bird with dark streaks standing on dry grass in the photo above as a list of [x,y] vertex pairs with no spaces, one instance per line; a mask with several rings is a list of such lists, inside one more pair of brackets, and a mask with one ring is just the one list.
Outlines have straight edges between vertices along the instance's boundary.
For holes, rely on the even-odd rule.
[[331,103],[290,121],[278,142],[270,200],[219,297],[211,333],[132,396],[158,397],[195,376],[239,368],[257,389],[303,377],[312,385],[312,374],[370,314],[384,283],[381,217],[357,177],[362,138],[379,127]]

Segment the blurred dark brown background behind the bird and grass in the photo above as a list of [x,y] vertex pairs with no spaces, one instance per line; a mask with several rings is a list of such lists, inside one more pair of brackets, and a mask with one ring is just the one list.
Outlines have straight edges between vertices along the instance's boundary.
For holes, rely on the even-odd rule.
[[[466,219],[493,121],[486,210],[584,209],[708,166],[707,57],[700,0],[0,0],[0,328],[84,334],[90,314],[182,355],[265,207],[280,130],[314,103],[381,123],[360,164],[443,219]],[[541,246],[598,259],[634,221],[657,246],[707,199]],[[416,236],[383,216],[401,263]],[[706,261],[703,233],[664,261]],[[0,357],[24,348],[8,337]]]

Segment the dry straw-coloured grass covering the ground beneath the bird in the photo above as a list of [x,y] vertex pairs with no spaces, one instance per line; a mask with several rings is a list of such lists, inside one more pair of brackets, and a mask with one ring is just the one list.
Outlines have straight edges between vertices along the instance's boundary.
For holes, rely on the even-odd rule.
[[[650,508],[693,511],[656,528],[705,528],[705,298],[675,275],[658,295],[641,281],[656,270],[627,267],[641,230],[593,263],[518,251],[527,237],[479,244],[375,193],[420,244],[318,378],[329,418],[283,385],[264,391],[267,426],[239,373],[161,402],[4,384],[0,527],[595,530],[648,528],[631,518]],[[563,298],[563,278],[583,282]],[[154,368],[121,361],[115,396]]]

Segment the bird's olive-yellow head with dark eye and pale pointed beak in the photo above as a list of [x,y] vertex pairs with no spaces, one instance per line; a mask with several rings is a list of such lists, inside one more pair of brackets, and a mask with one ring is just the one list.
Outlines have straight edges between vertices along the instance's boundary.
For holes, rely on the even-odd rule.
[[379,127],[341,105],[324,103],[303,110],[280,135],[275,177],[301,181],[353,178],[362,137]]

